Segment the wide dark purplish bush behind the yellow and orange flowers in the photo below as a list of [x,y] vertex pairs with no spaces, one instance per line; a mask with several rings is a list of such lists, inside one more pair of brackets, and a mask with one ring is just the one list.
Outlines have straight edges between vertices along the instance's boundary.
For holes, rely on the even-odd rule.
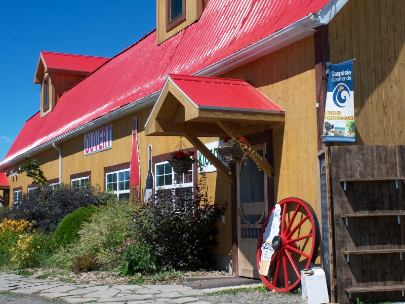
[[50,185],[39,186],[28,194],[23,194],[21,202],[11,208],[3,208],[0,218],[27,220],[32,227],[44,233],[55,231],[60,221],[80,207],[100,206],[115,197],[101,192],[98,187],[71,187],[59,185],[55,189]]

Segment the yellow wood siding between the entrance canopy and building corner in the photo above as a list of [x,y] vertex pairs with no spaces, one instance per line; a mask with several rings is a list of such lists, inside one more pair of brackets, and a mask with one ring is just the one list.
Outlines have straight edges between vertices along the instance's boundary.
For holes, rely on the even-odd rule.
[[[274,150],[274,199],[307,201],[317,212],[317,132],[314,36],[221,77],[245,79],[286,111],[285,124],[270,125]],[[242,128],[243,134],[268,130]],[[251,130],[250,130],[251,129]]]

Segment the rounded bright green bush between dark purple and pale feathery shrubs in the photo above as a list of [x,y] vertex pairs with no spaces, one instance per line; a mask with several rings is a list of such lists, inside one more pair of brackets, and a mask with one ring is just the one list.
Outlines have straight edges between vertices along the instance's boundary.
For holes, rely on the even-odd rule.
[[66,215],[55,231],[54,238],[56,243],[66,246],[77,241],[79,239],[77,232],[82,229],[83,223],[88,221],[89,217],[97,210],[100,209],[94,206],[87,208],[80,207],[76,211]]

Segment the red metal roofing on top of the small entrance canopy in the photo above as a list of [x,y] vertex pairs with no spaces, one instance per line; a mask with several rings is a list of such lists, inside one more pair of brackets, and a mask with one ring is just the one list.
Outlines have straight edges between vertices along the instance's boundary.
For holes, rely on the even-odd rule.
[[245,80],[169,74],[199,108],[284,113],[284,110]]

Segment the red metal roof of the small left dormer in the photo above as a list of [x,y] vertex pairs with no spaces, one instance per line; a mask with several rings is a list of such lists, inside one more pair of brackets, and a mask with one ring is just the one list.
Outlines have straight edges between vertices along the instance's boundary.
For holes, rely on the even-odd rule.
[[47,68],[92,72],[110,58],[41,52]]

